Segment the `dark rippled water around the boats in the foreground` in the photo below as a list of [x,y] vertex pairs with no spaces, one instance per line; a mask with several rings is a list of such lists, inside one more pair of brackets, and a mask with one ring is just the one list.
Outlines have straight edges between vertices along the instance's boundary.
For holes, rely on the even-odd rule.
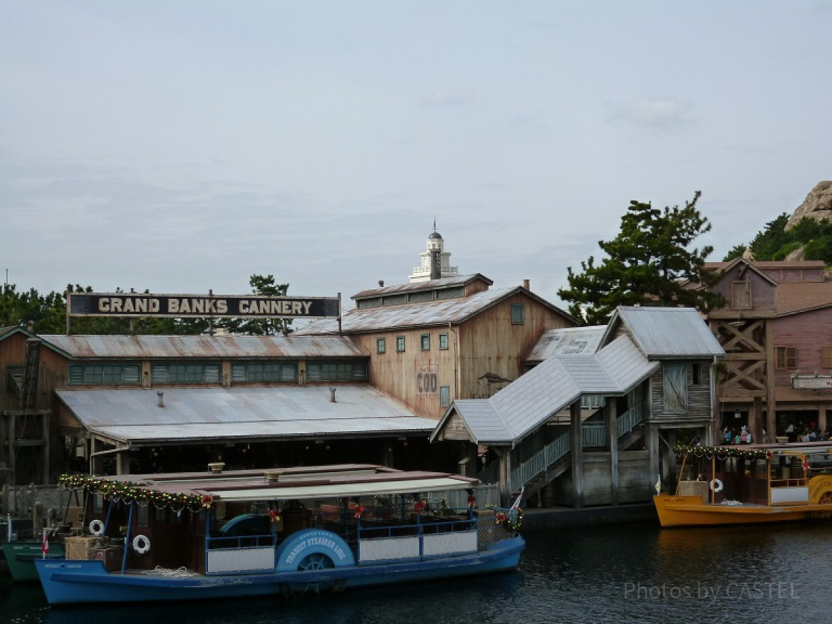
[[339,595],[50,608],[0,577],[0,622],[48,624],[513,624],[829,622],[832,525],[526,534],[518,572]]

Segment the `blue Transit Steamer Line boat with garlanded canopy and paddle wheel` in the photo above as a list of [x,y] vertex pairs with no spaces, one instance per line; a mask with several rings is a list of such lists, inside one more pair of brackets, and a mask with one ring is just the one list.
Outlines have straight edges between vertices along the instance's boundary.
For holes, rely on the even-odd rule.
[[525,546],[521,510],[477,508],[478,481],[448,473],[348,464],[122,478],[62,478],[94,494],[101,518],[66,559],[34,562],[50,604],[427,581],[511,570]]

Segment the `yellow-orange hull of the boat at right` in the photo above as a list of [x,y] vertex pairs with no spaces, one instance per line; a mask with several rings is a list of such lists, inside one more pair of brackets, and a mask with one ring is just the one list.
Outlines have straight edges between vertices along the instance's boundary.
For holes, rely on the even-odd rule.
[[721,505],[703,503],[699,496],[653,497],[662,527],[711,527],[730,524],[765,524],[804,520],[810,513],[830,512],[820,505]]

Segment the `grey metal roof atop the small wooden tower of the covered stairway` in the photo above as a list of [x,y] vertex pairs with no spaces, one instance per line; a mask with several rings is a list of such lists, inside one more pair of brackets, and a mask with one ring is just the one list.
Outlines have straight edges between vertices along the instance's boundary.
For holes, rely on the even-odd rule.
[[[713,358],[725,355],[719,341],[694,308],[619,306],[607,335],[621,320],[648,358]],[[606,336],[605,336],[606,338]]]

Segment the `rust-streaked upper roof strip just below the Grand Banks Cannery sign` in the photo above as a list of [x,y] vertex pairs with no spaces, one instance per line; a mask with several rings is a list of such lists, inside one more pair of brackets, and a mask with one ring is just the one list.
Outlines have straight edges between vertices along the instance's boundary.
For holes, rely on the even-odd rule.
[[73,358],[355,358],[367,357],[345,336],[43,335]]

